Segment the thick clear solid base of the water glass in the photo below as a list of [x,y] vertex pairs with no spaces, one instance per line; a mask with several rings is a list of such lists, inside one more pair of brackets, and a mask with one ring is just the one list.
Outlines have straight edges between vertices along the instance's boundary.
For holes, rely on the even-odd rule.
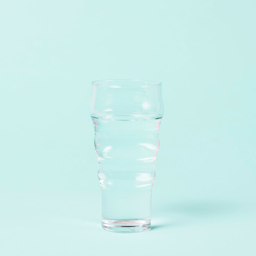
[[150,230],[150,218],[143,220],[106,220],[102,218],[102,227],[117,233],[135,233]]

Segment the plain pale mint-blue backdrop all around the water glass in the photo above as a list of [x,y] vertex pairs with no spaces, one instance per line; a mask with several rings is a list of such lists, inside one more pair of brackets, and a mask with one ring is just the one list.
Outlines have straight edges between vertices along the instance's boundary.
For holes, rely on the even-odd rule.
[[[256,254],[255,1],[1,1],[0,254]],[[91,81],[163,83],[153,229],[103,231]]]

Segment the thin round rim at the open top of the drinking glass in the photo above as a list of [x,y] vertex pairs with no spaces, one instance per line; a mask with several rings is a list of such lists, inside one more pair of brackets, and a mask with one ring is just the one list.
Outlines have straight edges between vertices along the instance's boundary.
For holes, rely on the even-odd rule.
[[[113,82],[113,83],[111,83]],[[141,84],[129,84],[124,85],[122,82],[140,82]],[[100,87],[112,87],[112,88],[122,88],[122,87],[152,87],[160,86],[162,83],[160,81],[144,80],[144,79],[106,79],[106,80],[95,80],[92,81],[92,85]]]

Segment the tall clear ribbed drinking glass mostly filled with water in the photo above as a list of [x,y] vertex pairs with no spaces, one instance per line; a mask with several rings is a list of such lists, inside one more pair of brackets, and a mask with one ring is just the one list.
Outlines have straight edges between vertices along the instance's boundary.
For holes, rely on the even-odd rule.
[[102,227],[150,229],[151,191],[164,108],[162,84],[144,80],[92,82],[90,114],[99,162]]

